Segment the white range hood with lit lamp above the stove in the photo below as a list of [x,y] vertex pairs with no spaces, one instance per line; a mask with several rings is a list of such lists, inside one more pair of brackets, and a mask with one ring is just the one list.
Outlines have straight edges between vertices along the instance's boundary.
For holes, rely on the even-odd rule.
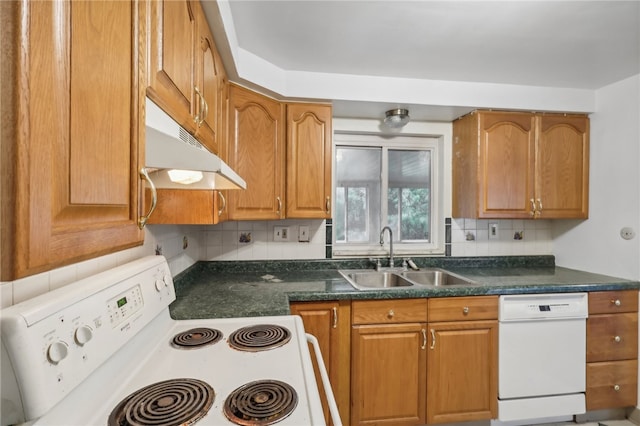
[[156,188],[246,189],[217,155],[146,99],[146,172]]

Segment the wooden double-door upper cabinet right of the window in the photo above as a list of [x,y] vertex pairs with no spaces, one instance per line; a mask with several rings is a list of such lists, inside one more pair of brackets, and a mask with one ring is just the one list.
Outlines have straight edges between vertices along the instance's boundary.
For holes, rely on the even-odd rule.
[[478,111],[453,124],[453,216],[586,218],[589,119]]

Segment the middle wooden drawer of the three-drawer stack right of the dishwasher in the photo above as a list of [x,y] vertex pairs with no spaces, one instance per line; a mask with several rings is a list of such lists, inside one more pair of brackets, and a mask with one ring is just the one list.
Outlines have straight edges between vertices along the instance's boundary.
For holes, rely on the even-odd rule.
[[587,319],[587,362],[637,357],[637,312],[593,315]]

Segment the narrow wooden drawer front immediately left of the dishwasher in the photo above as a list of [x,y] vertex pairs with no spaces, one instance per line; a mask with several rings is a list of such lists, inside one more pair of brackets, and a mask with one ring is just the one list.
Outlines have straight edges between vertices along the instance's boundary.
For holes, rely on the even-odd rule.
[[498,319],[498,296],[429,299],[429,322]]

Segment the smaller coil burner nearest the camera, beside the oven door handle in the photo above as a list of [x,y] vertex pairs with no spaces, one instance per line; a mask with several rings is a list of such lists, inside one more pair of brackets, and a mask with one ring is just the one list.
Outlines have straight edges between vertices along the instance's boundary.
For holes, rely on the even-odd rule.
[[289,416],[296,405],[298,395],[290,385],[258,380],[231,392],[224,404],[224,415],[238,425],[272,425]]

